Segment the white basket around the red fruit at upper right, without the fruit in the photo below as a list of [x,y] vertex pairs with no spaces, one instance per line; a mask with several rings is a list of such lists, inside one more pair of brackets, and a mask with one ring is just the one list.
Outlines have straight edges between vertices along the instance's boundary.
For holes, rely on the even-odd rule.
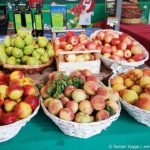
[[[95,31],[93,34],[91,34],[90,38],[94,38],[97,33],[101,31],[101,30],[97,30]],[[102,31],[109,31],[108,30],[102,30]],[[115,31],[119,34],[122,34],[122,32],[118,32],[118,31]],[[132,37],[131,37],[132,38]],[[132,38],[133,39],[133,38]],[[140,43],[139,43],[140,44]],[[138,67],[138,66],[141,66],[143,65],[148,59],[149,59],[149,53],[148,51],[140,44],[140,46],[143,48],[143,51],[144,51],[144,56],[145,56],[145,59],[142,60],[142,61],[138,61],[138,62],[127,62],[127,61],[114,61],[112,59],[109,59],[109,58],[105,58],[103,56],[101,56],[101,60],[103,62],[103,64],[108,68],[108,69],[112,69],[111,66],[114,64],[114,63],[118,63],[118,65],[122,66],[122,67],[127,67],[127,68],[133,68],[133,67]]]

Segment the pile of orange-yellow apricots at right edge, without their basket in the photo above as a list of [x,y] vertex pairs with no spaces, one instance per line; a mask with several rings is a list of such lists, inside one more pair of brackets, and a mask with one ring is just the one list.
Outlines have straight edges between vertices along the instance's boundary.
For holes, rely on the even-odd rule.
[[150,111],[150,68],[130,70],[112,78],[110,83],[123,100]]

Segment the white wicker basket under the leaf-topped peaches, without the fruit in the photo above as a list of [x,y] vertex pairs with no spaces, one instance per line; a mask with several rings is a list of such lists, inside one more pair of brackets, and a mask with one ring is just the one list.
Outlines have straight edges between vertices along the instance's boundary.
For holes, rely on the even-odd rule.
[[72,121],[65,121],[54,115],[51,115],[43,105],[42,99],[41,99],[41,106],[44,113],[50,119],[52,119],[52,121],[60,128],[60,130],[64,134],[78,138],[89,138],[96,134],[101,133],[101,131],[110,126],[113,121],[117,120],[120,115],[119,111],[107,120],[92,123],[76,123]]

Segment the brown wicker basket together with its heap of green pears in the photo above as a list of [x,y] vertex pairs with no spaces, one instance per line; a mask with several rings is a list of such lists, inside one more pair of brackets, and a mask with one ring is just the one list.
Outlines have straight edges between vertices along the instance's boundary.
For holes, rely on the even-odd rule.
[[53,62],[53,57],[53,46],[46,37],[34,39],[25,30],[6,36],[0,44],[0,64],[12,71],[41,72]]

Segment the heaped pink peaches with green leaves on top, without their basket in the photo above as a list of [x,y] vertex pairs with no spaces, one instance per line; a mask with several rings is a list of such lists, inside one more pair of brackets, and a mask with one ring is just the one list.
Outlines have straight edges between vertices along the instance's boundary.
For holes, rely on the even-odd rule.
[[87,69],[70,76],[53,72],[40,92],[47,111],[66,121],[91,123],[107,120],[120,111],[119,94],[100,86]]

